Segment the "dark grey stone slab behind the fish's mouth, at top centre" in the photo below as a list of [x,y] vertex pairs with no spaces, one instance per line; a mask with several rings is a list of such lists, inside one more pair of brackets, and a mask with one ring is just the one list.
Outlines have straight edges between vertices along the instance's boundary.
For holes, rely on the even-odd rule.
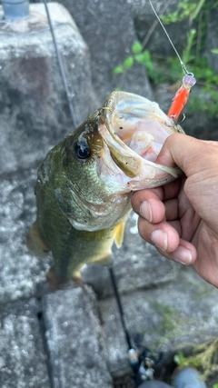
[[73,15],[90,48],[94,90],[100,104],[117,88],[152,99],[152,89],[142,65],[134,64],[123,75],[113,74],[114,67],[131,54],[137,39],[126,1],[62,0],[62,4]]

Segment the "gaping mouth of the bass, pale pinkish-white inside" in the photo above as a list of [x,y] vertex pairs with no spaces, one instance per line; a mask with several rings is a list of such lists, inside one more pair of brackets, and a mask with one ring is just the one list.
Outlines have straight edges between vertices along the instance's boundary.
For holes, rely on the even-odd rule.
[[183,174],[178,167],[155,164],[165,139],[183,133],[158,104],[140,95],[114,92],[102,108],[99,132],[131,190],[166,184]]

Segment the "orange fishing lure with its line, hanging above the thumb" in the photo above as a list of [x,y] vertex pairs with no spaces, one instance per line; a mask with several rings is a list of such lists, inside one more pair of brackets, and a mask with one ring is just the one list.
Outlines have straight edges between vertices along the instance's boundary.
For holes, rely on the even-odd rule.
[[149,3],[150,3],[150,5],[151,5],[151,7],[152,7],[152,9],[154,11],[154,15],[156,16],[157,20],[159,21],[160,25],[163,28],[163,31],[164,31],[165,35],[167,36],[170,44],[172,45],[175,54],[179,58],[180,65],[182,66],[183,73],[184,73],[183,84],[180,86],[180,88],[177,90],[175,96],[173,97],[173,103],[172,103],[172,105],[170,107],[170,110],[169,110],[169,112],[167,114],[174,121],[177,121],[179,115],[183,111],[184,105],[188,101],[188,98],[189,98],[189,95],[190,95],[190,92],[191,92],[191,89],[192,89],[193,85],[196,84],[196,79],[194,78],[193,73],[188,72],[186,66],[183,64],[183,61],[182,61],[179,53],[177,52],[175,46],[173,45],[173,42],[172,42],[169,34],[167,33],[167,31],[166,31],[166,29],[165,29],[165,27],[164,27],[160,17],[157,15],[157,13],[156,13],[156,11],[154,9],[154,5],[152,4],[152,0],[149,0]]

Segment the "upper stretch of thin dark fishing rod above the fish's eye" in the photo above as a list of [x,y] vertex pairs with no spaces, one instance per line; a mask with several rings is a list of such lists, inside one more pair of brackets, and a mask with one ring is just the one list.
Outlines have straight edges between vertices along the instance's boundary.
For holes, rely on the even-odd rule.
[[57,43],[56,43],[56,38],[55,38],[55,35],[54,35],[54,28],[53,28],[53,25],[52,25],[52,20],[51,20],[50,13],[49,13],[49,10],[48,10],[47,2],[46,2],[46,0],[43,0],[43,2],[44,2],[44,5],[45,5],[45,11],[46,11],[46,15],[47,15],[47,20],[48,20],[49,28],[50,28],[50,31],[51,31],[51,35],[53,37],[53,43],[54,43],[54,49],[55,49],[55,54],[56,54],[57,65],[58,65],[59,72],[60,72],[60,75],[61,75],[61,78],[62,78],[62,82],[63,82],[63,85],[64,85],[64,92],[65,92],[65,95],[66,95],[67,104],[69,106],[71,120],[72,120],[73,126],[75,128],[77,126],[77,124],[76,124],[76,116],[75,116],[75,112],[74,112],[74,106],[72,104],[72,94],[70,93],[70,90],[69,90],[68,85],[67,85],[67,81],[66,81],[66,77],[65,77],[65,72],[64,72],[64,65],[63,65],[63,62],[62,62],[62,57],[60,55]]

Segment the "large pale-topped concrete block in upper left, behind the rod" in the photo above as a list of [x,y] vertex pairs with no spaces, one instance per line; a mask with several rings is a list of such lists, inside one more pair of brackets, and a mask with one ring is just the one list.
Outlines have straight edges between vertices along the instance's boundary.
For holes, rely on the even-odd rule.
[[[72,17],[49,4],[76,123],[96,105],[90,55]],[[74,128],[43,4],[30,5],[30,18],[5,22],[0,8],[0,174],[33,167]]]

